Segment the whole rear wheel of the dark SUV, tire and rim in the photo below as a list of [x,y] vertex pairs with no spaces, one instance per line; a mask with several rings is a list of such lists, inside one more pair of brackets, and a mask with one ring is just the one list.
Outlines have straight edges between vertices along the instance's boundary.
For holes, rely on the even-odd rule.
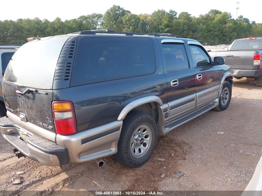
[[123,120],[114,158],[123,166],[136,168],[143,165],[153,154],[157,143],[157,125],[143,112],[130,112]]

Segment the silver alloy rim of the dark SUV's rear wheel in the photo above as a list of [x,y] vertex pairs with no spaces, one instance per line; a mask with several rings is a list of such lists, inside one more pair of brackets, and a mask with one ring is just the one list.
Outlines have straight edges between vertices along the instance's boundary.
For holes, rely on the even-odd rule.
[[138,126],[130,140],[130,151],[132,156],[140,158],[146,154],[152,142],[152,131],[148,125]]

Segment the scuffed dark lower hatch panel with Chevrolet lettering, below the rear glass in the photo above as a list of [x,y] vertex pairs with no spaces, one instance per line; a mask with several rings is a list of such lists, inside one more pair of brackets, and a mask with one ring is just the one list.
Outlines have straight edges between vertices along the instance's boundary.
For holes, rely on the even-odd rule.
[[7,110],[24,117],[22,121],[55,132],[51,104],[52,90],[30,89],[4,82],[3,95]]

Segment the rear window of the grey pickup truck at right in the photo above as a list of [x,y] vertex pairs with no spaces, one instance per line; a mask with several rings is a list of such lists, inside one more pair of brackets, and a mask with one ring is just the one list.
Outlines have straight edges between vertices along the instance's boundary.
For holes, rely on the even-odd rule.
[[230,50],[262,50],[262,39],[235,41]]

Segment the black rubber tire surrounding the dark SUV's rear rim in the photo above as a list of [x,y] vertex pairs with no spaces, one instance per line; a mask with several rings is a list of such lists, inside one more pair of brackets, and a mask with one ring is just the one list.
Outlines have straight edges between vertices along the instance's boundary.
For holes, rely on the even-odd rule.
[[[144,155],[142,155],[142,157],[136,158],[131,153],[131,146],[133,145],[133,143],[131,144],[131,139],[135,138],[133,134],[136,132],[136,130],[137,129],[140,130],[139,126],[144,126],[144,125],[148,126],[151,130],[150,132],[152,133],[152,136],[150,136],[151,143],[148,147],[148,150],[147,151],[145,150]],[[142,132],[144,132],[144,130]],[[123,166],[128,168],[136,168],[143,165],[152,156],[156,143],[157,143],[157,125],[154,119],[150,115],[145,114],[143,112],[136,112],[136,111],[130,112],[123,120],[123,126],[118,141],[118,152],[113,156]],[[144,143],[142,145],[144,146]]]

